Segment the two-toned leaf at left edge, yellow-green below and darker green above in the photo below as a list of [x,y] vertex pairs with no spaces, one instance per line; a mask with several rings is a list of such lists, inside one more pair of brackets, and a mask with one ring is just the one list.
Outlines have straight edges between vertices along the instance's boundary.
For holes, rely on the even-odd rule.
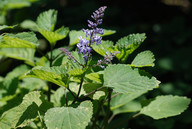
[[33,32],[7,34],[0,42],[0,47],[3,48],[36,48],[38,45],[38,39]]

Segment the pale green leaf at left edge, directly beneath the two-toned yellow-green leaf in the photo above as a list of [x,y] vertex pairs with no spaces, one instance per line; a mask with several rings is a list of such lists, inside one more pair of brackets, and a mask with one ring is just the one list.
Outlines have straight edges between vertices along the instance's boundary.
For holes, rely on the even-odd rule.
[[31,64],[34,64],[34,54],[35,50],[32,48],[0,48],[0,55],[28,61]]

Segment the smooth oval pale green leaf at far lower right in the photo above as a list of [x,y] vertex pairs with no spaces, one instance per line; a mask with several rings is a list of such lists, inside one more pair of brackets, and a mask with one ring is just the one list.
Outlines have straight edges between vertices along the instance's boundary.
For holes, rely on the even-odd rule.
[[140,114],[150,116],[153,119],[176,116],[186,110],[190,102],[191,100],[186,97],[157,96],[154,101],[140,111]]

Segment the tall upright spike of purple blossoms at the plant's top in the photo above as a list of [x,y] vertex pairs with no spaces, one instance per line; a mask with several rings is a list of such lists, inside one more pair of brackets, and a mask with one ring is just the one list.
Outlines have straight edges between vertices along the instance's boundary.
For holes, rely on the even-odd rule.
[[83,58],[85,62],[88,61],[88,58],[91,54],[91,45],[93,43],[96,43],[96,45],[101,44],[102,37],[97,35],[102,35],[104,33],[104,30],[101,28],[97,28],[98,25],[102,24],[101,17],[104,15],[104,11],[107,7],[103,6],[100,7],[98,10],[96,10],[91,17],[94,19],[94,22],[88,20],[88,27],[91,29],[83,29],[82,31],[86,34],[86,37],[89,37],[90,40],[87,40],[86,38],[82,38],[82,36],[79,37],[80,42],[77,44],[77,48],[79,50],[79,53],[83,53]]

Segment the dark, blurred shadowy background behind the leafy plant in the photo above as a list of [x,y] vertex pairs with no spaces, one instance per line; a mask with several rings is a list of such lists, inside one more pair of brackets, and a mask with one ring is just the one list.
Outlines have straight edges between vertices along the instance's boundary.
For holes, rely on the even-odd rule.
[[[148,68],[161,81],[160,88],[149,92],[157,95],[183,95],[192,98],[192,1],[191,0],[40,0],[32,6],[9,11],[7,24],[14,25],[25,19],[36,21],[39,13],[58,10],[58,24],[70,30],[87,28],[87,19],[93,11],[106,5],[101,27],[116,30],[104,39],[116,42],[132,33],[146,33],[145,42],[130,56],[127,63],[143,50],[151,50],[156,58],[154,68]],[[57,47],[68,45],[68,38]],[[15,62],[15,61],[11,61]],[[10,63],[9,68],[15,67]],[[7,70],[1,70],[5,74]],[[128,114],[118,115],[111,129],[190,129],[191,106],[180,116],[152,120],[147,116],[130,119]]]

